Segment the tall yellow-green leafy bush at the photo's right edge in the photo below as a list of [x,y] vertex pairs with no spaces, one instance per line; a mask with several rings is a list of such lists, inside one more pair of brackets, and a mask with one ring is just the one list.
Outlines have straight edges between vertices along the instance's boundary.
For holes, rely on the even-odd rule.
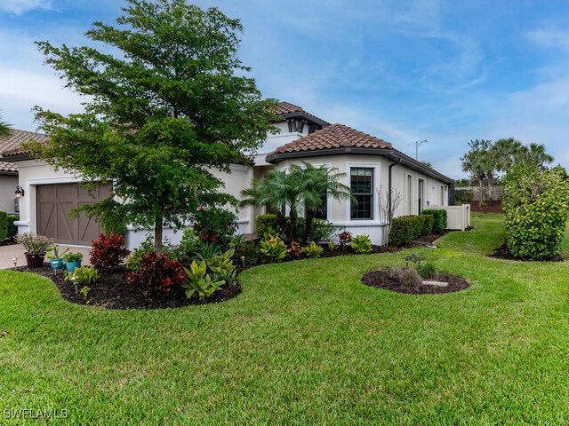
[[557,255],[568,204],[564,169],[513,166],[506,175],[502,198],[506,242],[512,255],[525,259]]

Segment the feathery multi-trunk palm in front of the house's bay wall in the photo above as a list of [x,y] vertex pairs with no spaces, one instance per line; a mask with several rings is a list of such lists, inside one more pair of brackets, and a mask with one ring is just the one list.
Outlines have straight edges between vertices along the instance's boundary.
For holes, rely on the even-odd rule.
[[281,229],[286,228],[284,212],[288,209],[291,239],[298,241],[298,217],[302,208],[306,215],[307,236],[315,215],[324,207],[324,195],[336,200],[351,198],[349,187],[340,183],[343,177],[346,174],[333,167],[315,167],[309,162],[292,164],[288,170],[272,170],[263,179],[253,180],[252,186],[241,192],[239,205],[274,209]]

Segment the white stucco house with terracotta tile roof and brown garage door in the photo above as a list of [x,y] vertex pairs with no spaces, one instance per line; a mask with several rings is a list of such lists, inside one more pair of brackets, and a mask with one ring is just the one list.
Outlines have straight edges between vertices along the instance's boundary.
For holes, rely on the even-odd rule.
[[[345,184],[352,188],[357,203],[329,199],[322,217],[339,230],[367,233],[375,244],[381,244],[384,226],[377,214],[378,191],[385,193],[391,187],[401,193],[396,216],[418,214],[428,206],[447,206],[452,201],[453,179],[398,151],[389,142],[343,124],[331,124],[288,102],[281,102],[276,114],[281,117],[275,123],[280,133],[268,135],[252,165],[233,164],[231,173],[216,173],[227,193],[238,198],[253,178],[293,163],[306,161],[336,167],[347,174]],[[80,177],[66,170],[52,170],[19,145],[0,154],[5,162],[17,164],[20,171],[20,185],[25,191],[17,222],[20,233],[41,233],[54,241],[76,245],[90,245],[97,239],[100,225],[96,221],[87,217],[71,220],[67,216],[69,209],[93,202],[78,185]],[[100,187],[94,201],[107,198],[110,192],[110,184]],[[265,210],[239,209],[238,232],[254,233],[254,218]],[[147,233],[129,227],[127,246],[136,247]],[[172,242],[179,241],[180,234],[164,230],[164,236]]]

